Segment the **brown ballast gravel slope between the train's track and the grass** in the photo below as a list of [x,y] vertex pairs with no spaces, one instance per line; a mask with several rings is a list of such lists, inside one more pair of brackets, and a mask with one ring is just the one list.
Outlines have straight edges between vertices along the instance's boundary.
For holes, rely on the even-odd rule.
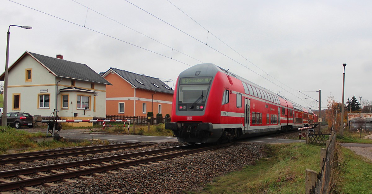
[[[178,142],[159,143],[157,146],[177,146]],[[55,182],[58,186],[34,188],[39,191],[14,193],[183,193],[200,191],[215,177],[253,165],[264,156],[263,144],[235,143],[228,148],[184,156],[150,166],[128,168],[116,174],[106,174],[77,183]],[[12,192],[12,191],[11,191]]]

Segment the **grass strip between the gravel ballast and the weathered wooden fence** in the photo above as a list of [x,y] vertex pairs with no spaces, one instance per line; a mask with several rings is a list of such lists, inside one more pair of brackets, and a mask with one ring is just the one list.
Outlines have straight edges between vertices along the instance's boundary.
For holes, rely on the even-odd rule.
[[305,169],[320,170],[319,145],[267,145],[267,158],[218,177],[201,193],[305,193]]

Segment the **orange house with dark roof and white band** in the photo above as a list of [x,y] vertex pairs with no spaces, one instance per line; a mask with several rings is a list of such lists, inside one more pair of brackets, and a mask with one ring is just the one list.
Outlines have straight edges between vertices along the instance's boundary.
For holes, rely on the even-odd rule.
[[158,78],[112,67],[100,74],[112,83],[106,86],[106,114],[171,114],[174,90]]

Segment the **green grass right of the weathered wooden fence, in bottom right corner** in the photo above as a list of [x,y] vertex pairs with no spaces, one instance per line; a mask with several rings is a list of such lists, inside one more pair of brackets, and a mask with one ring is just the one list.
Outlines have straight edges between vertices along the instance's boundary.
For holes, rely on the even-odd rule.
[[334,184],[334,193],[371,193],[372,164],[347,148],[339,149],[339,165]]

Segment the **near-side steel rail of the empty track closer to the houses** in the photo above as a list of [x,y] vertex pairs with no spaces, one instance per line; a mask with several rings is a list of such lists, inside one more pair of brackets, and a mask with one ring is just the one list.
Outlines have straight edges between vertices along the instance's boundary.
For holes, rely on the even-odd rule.
[[149,145],[154,145],[154,144],[156,144],[156,143],[120,146],[120,147],[114,147],[114,148],[92,149],[92,150],[83,150],[83,151],[75,151],[75,152],[54,153],[54,154],[48,154],[48,155],[27,156],[27,157],[23,157],[23,158],[1,159],[0,164],[12,164],[12,163],[17,163],[17,162],[29,162],[29,161],[34,161],[34,160],[43,160],[43,159],[66,157],[66,156],[84,155],[84,154],[89,154],[89,153],[109,152],[109,151],[116,151],[116,150],[120,150],[120,149],[144,147],[144,146],[149,146]]

